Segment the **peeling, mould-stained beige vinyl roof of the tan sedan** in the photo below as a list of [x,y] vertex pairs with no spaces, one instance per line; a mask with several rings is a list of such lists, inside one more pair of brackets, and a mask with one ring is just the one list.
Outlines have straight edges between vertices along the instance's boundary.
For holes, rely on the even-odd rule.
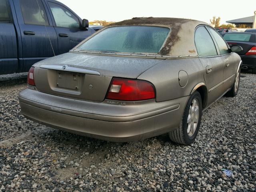
[[[203,24],[208,25],[205,22],[200,22],[197,20],[191,19],[182,19],[182,18],[132,18],[130,20],[124,20],[121,22],[116,22],[109,24],[102,30],[113,27],[113,26],[134,26],[134,25],[146,25],[146,26],[161,26],[170,28],[170,33],[168,34],[164,45],[160,49],[157,55],[159,56],[170,56],[170,57],[179,57],[179,56],[197,56],[196,47],[194,44],[194,31],[196,26]],[[208,25],[209,26],[209,25]],[[99,30],[92,36],[98,34],[102,30]],[[92,36],[87,38],[90,39]],[[78,44],[80,46],[86,40]],[[75,48],[78,48],[76,46]]]

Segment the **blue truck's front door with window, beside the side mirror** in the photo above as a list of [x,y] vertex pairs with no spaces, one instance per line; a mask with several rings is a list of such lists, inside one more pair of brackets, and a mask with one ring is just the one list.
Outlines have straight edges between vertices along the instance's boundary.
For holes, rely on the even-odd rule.
[[[48,1],[54,28],[58,36],[58,53],[66,53],[92,34],[92,29],[82,30],[81,19],[64,4]],[[95,32],[95,31],[94,31]]]

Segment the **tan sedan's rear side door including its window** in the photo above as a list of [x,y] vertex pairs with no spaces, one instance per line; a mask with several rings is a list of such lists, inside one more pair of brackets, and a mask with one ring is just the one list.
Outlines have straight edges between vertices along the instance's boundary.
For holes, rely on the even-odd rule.
[[195,44],[199,60],[204,67],[204,80],[208,88],[208,106],[224,92],[222,87],[224,60],[219,55],[214,40],[205,26],[196,28]]

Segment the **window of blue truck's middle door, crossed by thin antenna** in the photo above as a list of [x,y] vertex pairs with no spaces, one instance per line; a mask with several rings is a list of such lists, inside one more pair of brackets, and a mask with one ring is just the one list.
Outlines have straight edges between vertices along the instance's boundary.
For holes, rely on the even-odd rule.
[[20,0],[20,7],[25,24],[49,25],[42,0]]

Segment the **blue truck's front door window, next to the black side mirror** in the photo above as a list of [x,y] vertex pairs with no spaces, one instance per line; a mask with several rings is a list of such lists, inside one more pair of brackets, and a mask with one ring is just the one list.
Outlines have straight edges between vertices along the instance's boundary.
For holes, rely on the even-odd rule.
[[57,27],[80,28],[79,20],[61,5],[48,2]]

